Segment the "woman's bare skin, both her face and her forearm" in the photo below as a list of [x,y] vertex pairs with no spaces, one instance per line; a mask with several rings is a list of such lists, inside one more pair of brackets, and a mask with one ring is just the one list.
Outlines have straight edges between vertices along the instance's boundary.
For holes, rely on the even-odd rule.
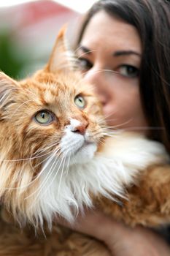
[[[77,50],[84,78],[95,86],[109,126],[146,133],[139,94],[141,53],[134,26],[104,11],[90,20]],[[161,236],[143,227],[131,229],[98,211],[78,217],[73,228],[104,241],[115,256],[170,255]]]

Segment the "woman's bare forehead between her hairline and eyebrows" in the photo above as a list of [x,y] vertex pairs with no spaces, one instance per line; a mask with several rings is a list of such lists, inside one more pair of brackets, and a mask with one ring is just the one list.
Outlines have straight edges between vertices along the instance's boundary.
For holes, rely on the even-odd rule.
[[91,18],[80,44],[89,48],[103,46],[104,49],[116,47],[138,53],[142,51],[142,42],[136,28],[104,11],[97,12]]

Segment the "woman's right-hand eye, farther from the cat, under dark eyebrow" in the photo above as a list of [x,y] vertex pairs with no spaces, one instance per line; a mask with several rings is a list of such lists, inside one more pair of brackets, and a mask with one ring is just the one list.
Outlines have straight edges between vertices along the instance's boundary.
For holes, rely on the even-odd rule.
[[121,65],[118,67],[117,72],[128,78],[137,78],[139,76],[139,69],[131,65]]

